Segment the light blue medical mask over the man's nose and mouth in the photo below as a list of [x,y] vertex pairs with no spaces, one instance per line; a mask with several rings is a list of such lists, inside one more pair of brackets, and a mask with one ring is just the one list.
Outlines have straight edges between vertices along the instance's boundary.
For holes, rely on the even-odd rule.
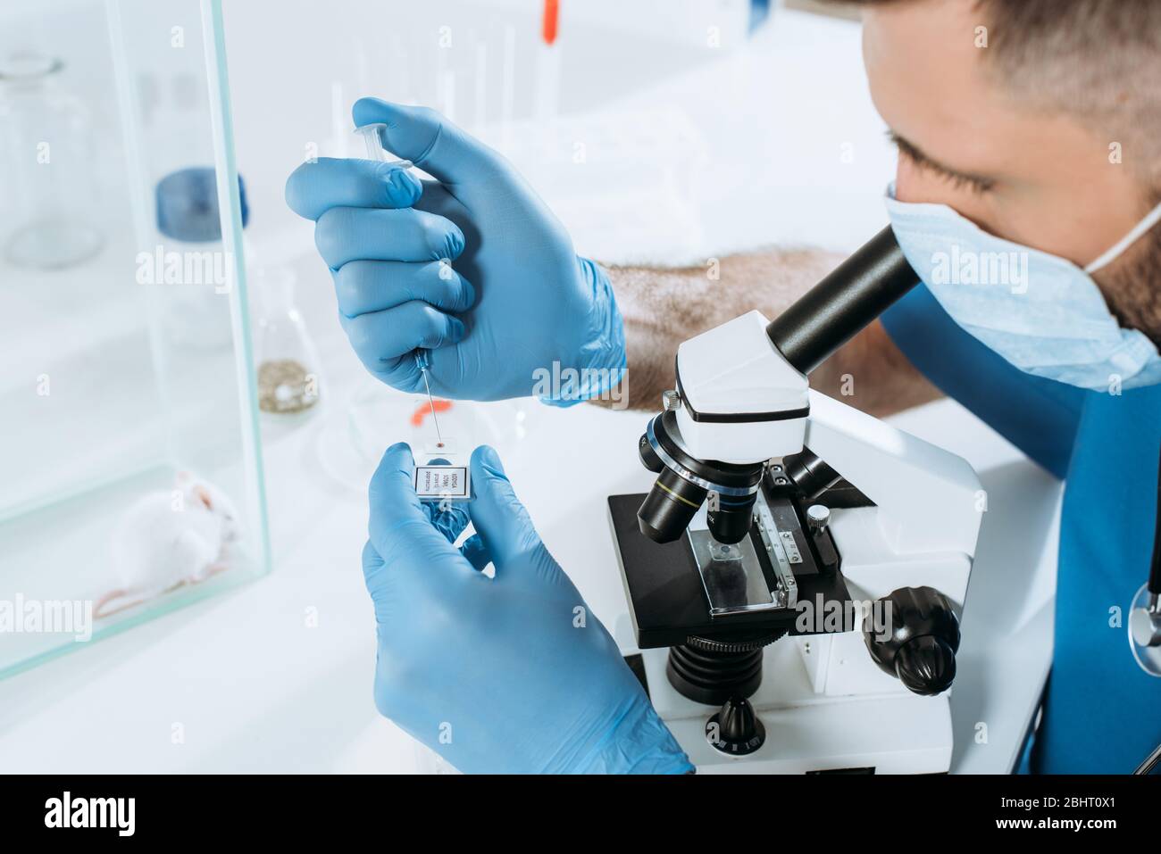
[[907,260],[944,310],[1021,370],[1099,391],[1161,383],[1156,346],[1120,327],[1090,275],[1156,225],[1161,205],[1084,269],[988,234],[945,204],[900,202],[894,184],[887,214]]

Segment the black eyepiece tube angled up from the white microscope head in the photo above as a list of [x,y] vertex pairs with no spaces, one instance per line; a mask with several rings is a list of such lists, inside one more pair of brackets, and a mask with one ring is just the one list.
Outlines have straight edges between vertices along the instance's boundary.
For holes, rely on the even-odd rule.
[[771,320],[766,335],[809,374],[918,283],[887,226]]

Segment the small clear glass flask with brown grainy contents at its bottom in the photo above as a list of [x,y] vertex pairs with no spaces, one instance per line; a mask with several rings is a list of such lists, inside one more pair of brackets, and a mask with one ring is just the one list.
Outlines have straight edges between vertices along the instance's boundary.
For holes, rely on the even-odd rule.
[[294,272],[259,267],[250,272],[257,309],[254,363],[258,408],[294,415],[319,400],[319,360],[294,301]]

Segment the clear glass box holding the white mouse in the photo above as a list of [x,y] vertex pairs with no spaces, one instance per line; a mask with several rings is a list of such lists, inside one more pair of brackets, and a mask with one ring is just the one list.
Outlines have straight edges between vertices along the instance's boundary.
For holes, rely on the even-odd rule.
[[243,190],[216,0],[5,3],[0,676],[269,569]]

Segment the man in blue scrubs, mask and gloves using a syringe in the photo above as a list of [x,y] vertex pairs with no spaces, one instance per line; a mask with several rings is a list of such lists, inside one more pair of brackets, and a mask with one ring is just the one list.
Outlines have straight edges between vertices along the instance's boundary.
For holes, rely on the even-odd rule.
[[[1065,480],[1031,768],[1132,772],[1161,741],[1161,679],[1134,663],[1123,624],[1149,566],[1161,440],[1161,3],[861,5],[872,96],[900,151],[885,201],[925,284],[813,384],[834,395],[853,375],[853,403],[875,414],[938,388]],[[499,154],[438,114],[363,99],[354,120],[385,123],[387,147],[437,182],[320,159],[287,200],[317,223],[352,346],[409,392],[426,347],[439,395],[527,396],[560,363],[627,369],[630,404],[655,407],[680,341],[750,309],[776,316],[835,262],[735,256],[717,282],[701,268],[606,272]],[[1011,287],[935,269],[953,252],[1017,253]],[[580,381],[547,403],[603,391]],[[433,522],[412,465],[394,446],[370,484],[382,714],[464,772],[692,770],[608,632],[583,618],[495,451],[471,457],[476,534],[459,549],[448,536],[466,519]]]

